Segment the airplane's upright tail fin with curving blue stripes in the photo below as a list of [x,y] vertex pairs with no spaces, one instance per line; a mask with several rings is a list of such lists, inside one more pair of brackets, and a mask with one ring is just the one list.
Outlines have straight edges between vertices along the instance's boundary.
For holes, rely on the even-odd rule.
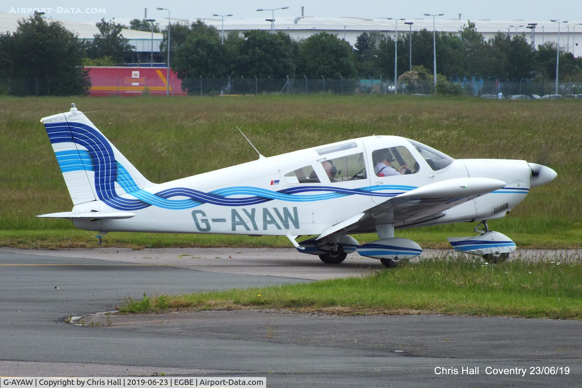
[[94,200],[116,203],[120,200],[109,199],[153,185],[71,105],[69,112],[44,117],[41,122],[47,129],[73,204]]

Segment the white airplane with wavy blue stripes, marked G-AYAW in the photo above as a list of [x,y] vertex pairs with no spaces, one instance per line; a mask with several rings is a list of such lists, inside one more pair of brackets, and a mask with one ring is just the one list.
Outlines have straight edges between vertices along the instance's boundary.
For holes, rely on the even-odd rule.
[[[393,267],[422,252],[395,230],[480,221],[477,236],[448,240],[496,262],[516,245],[487,220],[557,175],[524,160],[455,160],[404,137],[367,136],[153,184],[74,104],[41,122],[74,206],[37,217],[68,218],[100,242],[112,231],[280,235],[327,264],[356,251]],[[360,245],[348,235],[367,232],[379,239]]]

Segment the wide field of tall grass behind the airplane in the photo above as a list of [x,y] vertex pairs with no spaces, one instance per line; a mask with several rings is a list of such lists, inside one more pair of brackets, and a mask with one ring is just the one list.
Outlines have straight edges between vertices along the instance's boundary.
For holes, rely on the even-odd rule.
[[[97,125],[152,182],[187,177],[255,158],[235,128],[271,156],[372,134],[402,135],[455,158],[514,158],[549,165],[551,184],[490,226],[518,246],[582,245],[582,131],[578,100],[498,101],[393,96],[0,97],[0,246],[94,246],[93,232],[36,214],[72,207],[39,119],[70,103]],[[102,111],[105,110],[105,111]],[[425,247],[473,234],[473,224],[397,232]],[[469,234],[467,234],[469,233]],[[361,242],[372,235],[356,237]],[[283,238],[111,233],[104,245],[290,246]]]

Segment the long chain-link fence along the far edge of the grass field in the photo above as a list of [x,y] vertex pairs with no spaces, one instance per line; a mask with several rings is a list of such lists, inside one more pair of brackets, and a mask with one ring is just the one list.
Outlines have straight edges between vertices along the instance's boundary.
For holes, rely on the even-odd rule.
[[[544,82],[531,82],[521,80],[521,82],[499,82],[499,81],[452,81],[457,85],[457,94],[471,97],[491,97],[498,93],[503,97],[515,95],[526,96],[521,98],[537,98],[537,96],[548,96],[558,94],[562,97],[582,98],[582,82],[560,81],[558,82],[558,93],[553,80]],[[172,83],[174,84],[174,83]],[[136,87],[132,95],[149,94],[147,85]],[[193,96],[245,96],[254,94],[310,94],[310,93],[333,93],[333,94],[395,94],[394,82],[391,79],[368,77],[356,79],[309,79],[303,78],[190,78],[183,79],[182,86]],[[460,87],[459,87],[460,86]],[[178,90],[180,89],[178,85]],[[119,85],[112,85],[109,94],[119,95]],[[144,93],[145,89],[145,93]],[[165,87],[162,87],[161,94],[165,95]],[[176,91],[178,91],[176,90]],[[434,93],[432,80],[426,80],[417,84],[413,89],[406,84],[398,84],[396,94],[428,95]],[[91,93],[91,90],[87,92]],[[51,94],[51,80],[41,78],[0,78],[0,94],[10,96],[46,96]],[[95,95],[97,93],[94,92]],[[98,93],[104,95],[103,89]],[[171,92],[171,94],[174,94]],[[528,97],[529,96],[529,97]],[[559,98],[559,97],[558,97]]]

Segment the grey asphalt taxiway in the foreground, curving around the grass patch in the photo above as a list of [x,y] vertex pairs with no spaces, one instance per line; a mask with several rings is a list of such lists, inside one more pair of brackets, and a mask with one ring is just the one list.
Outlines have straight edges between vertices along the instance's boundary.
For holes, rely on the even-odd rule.
[[[204,259],[196,250],[115,251],[0,249],[0,375],[266,376],[269,387],[582,382],[582,323],[574,320],[207,311],[112,316],[112,326],[65,323],[70,314],[111,311],[144,292],[296,283],[381,268],[357,258],[325,266],[292,250],[219,249]],[[104,324],[105,317],[83,319]],[[562,372],[535,374],[544,366]],[[479,367],[479,374],[463,367]],[[526,373],[487,374],[499,371],[493,368]]]

